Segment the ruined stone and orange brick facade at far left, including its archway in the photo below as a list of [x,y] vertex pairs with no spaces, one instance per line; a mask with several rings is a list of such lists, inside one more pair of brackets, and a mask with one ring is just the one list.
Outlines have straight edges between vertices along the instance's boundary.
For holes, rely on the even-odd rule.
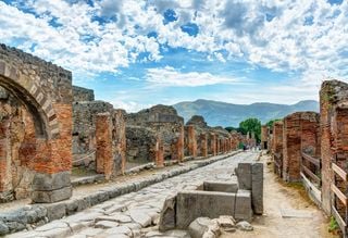
[[[0,86],[21,104],[11,105],[12,115],[1,112],[4,117],[17,115],[10,123],[12,125],[9,120],[1,121],[1,197],[7,200],[17,196],[11,172],[22,170],[26,173],[22,174],[21,180],[27,180],[25,184],[32,185],[27,186],[27,190],[30,190],[34,202],[54,202],[70,198],[73,101],[71,72],[1,45]],[[10,101],[2,101],[2,105],[11,104]],[[28,126],[25,129],[23,126],[17,127],[16,135],[12,135],[11,127],[14,128],[14,124]],[[23,197],[28,191],[24,191]]]

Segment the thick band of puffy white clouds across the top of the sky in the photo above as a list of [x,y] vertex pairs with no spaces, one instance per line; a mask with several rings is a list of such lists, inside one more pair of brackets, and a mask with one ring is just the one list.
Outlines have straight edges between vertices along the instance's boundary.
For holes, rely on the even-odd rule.
[[[165,21],[169,9],[175,21]],[[313,82],[315,72],[347,76],[346,12],[348,1],[326,0],[0,1],[0,40],[77,71],[160,61],[169,46]]]

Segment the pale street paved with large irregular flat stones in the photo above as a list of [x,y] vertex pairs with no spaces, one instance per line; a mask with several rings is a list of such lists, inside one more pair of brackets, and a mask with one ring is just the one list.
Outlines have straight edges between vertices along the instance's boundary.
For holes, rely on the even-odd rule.
[[227,180],[241,161],[252,161],[257,152],[239,153],[204,167],[120,196],[84,212],[53,221],[32,231],[8,237],[189,237],[186,231],[158,231],[159,213],[165,198],[181,190],[196,189],[203,180]]

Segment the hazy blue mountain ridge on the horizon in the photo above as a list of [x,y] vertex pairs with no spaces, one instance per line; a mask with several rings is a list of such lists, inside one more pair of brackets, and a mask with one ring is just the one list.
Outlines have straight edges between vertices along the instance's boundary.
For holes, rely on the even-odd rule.
[[232,104],[220,101],[199,99],[194,102],[179,102],[173,105],[187,122],[192,115],[202,115],[210,126],[238,126],[249,117],[257,117],[262,123],[300,111],[319,112],[319,102],[313,100],[300,101],[296,104],[274,104],[257,102],[252,104]]

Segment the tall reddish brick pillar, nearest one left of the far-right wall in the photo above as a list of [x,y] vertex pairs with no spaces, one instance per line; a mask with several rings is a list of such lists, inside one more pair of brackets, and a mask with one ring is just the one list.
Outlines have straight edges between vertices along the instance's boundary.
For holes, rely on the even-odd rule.
[[301,178],[300,115],[300,113],[293,113],[284,118],[283,179],[285,181],[299,181]]

